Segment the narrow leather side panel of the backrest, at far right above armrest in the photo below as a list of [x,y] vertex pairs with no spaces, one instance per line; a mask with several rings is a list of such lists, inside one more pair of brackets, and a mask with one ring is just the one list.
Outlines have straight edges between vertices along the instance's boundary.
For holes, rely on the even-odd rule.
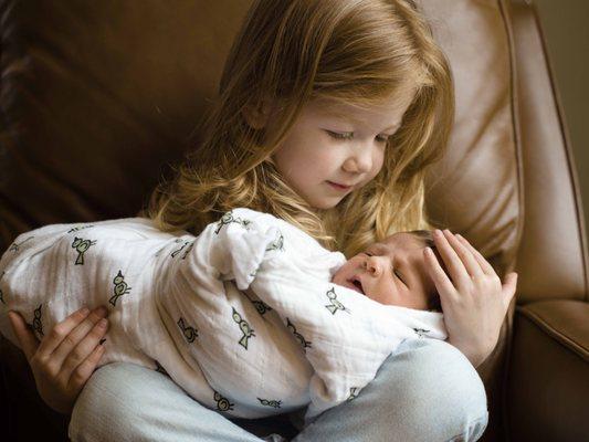
[[589,299],[582,206],[562,108],[530,1],[513,0],[526,222],[517,255],[518,303]]

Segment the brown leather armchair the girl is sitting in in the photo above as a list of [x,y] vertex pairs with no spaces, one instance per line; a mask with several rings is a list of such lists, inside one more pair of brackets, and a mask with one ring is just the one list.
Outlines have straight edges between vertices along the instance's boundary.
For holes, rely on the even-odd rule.
[[[428,177],[430,214],[501,275],[519,273],[517,305],[478,367],[491,410],[483,440],[587,440],[588,254],[534,6],[419,3],[456,87],[449,152]],[[197,123],[249,6],[0,0],[0,249],[46,223],[135,215],[198,144]],[[8,440],[66,439],[67,418],[43,404],[6,339],[0,368]]]

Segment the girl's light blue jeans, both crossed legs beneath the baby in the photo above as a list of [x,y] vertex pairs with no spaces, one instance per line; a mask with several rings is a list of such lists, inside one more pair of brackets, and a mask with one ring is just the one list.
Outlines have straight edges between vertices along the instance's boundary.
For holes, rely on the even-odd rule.
[[[483,382],[462,352],[445,341],[413,339],[356,399],[327,410],[293,441],[476,441],[487,419]],[[119,362],[90,378],[69,433],[73,442],[283,440],[248,432],[158,371]]]

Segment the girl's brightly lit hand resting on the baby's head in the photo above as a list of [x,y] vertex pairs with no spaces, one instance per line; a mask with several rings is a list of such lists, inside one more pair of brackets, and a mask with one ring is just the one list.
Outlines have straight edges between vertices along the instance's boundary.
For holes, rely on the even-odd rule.
[[464,238],[435,230],[434,242],[452,277],[448,277],[431,249],[425,263],[444,313],[448,343],[460,349],[474,367],[493,351],[509,303],[517,273],[502,284],[491,264]]

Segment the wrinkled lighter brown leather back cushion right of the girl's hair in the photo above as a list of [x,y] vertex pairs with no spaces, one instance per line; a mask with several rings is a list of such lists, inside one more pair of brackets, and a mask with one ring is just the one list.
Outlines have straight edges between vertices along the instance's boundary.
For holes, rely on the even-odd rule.
[[448,155],[428,177],[428,209],[503,275],[515,264],[523,223],[505,8],[491,0],[420,3],[450,60],[456,94]]

